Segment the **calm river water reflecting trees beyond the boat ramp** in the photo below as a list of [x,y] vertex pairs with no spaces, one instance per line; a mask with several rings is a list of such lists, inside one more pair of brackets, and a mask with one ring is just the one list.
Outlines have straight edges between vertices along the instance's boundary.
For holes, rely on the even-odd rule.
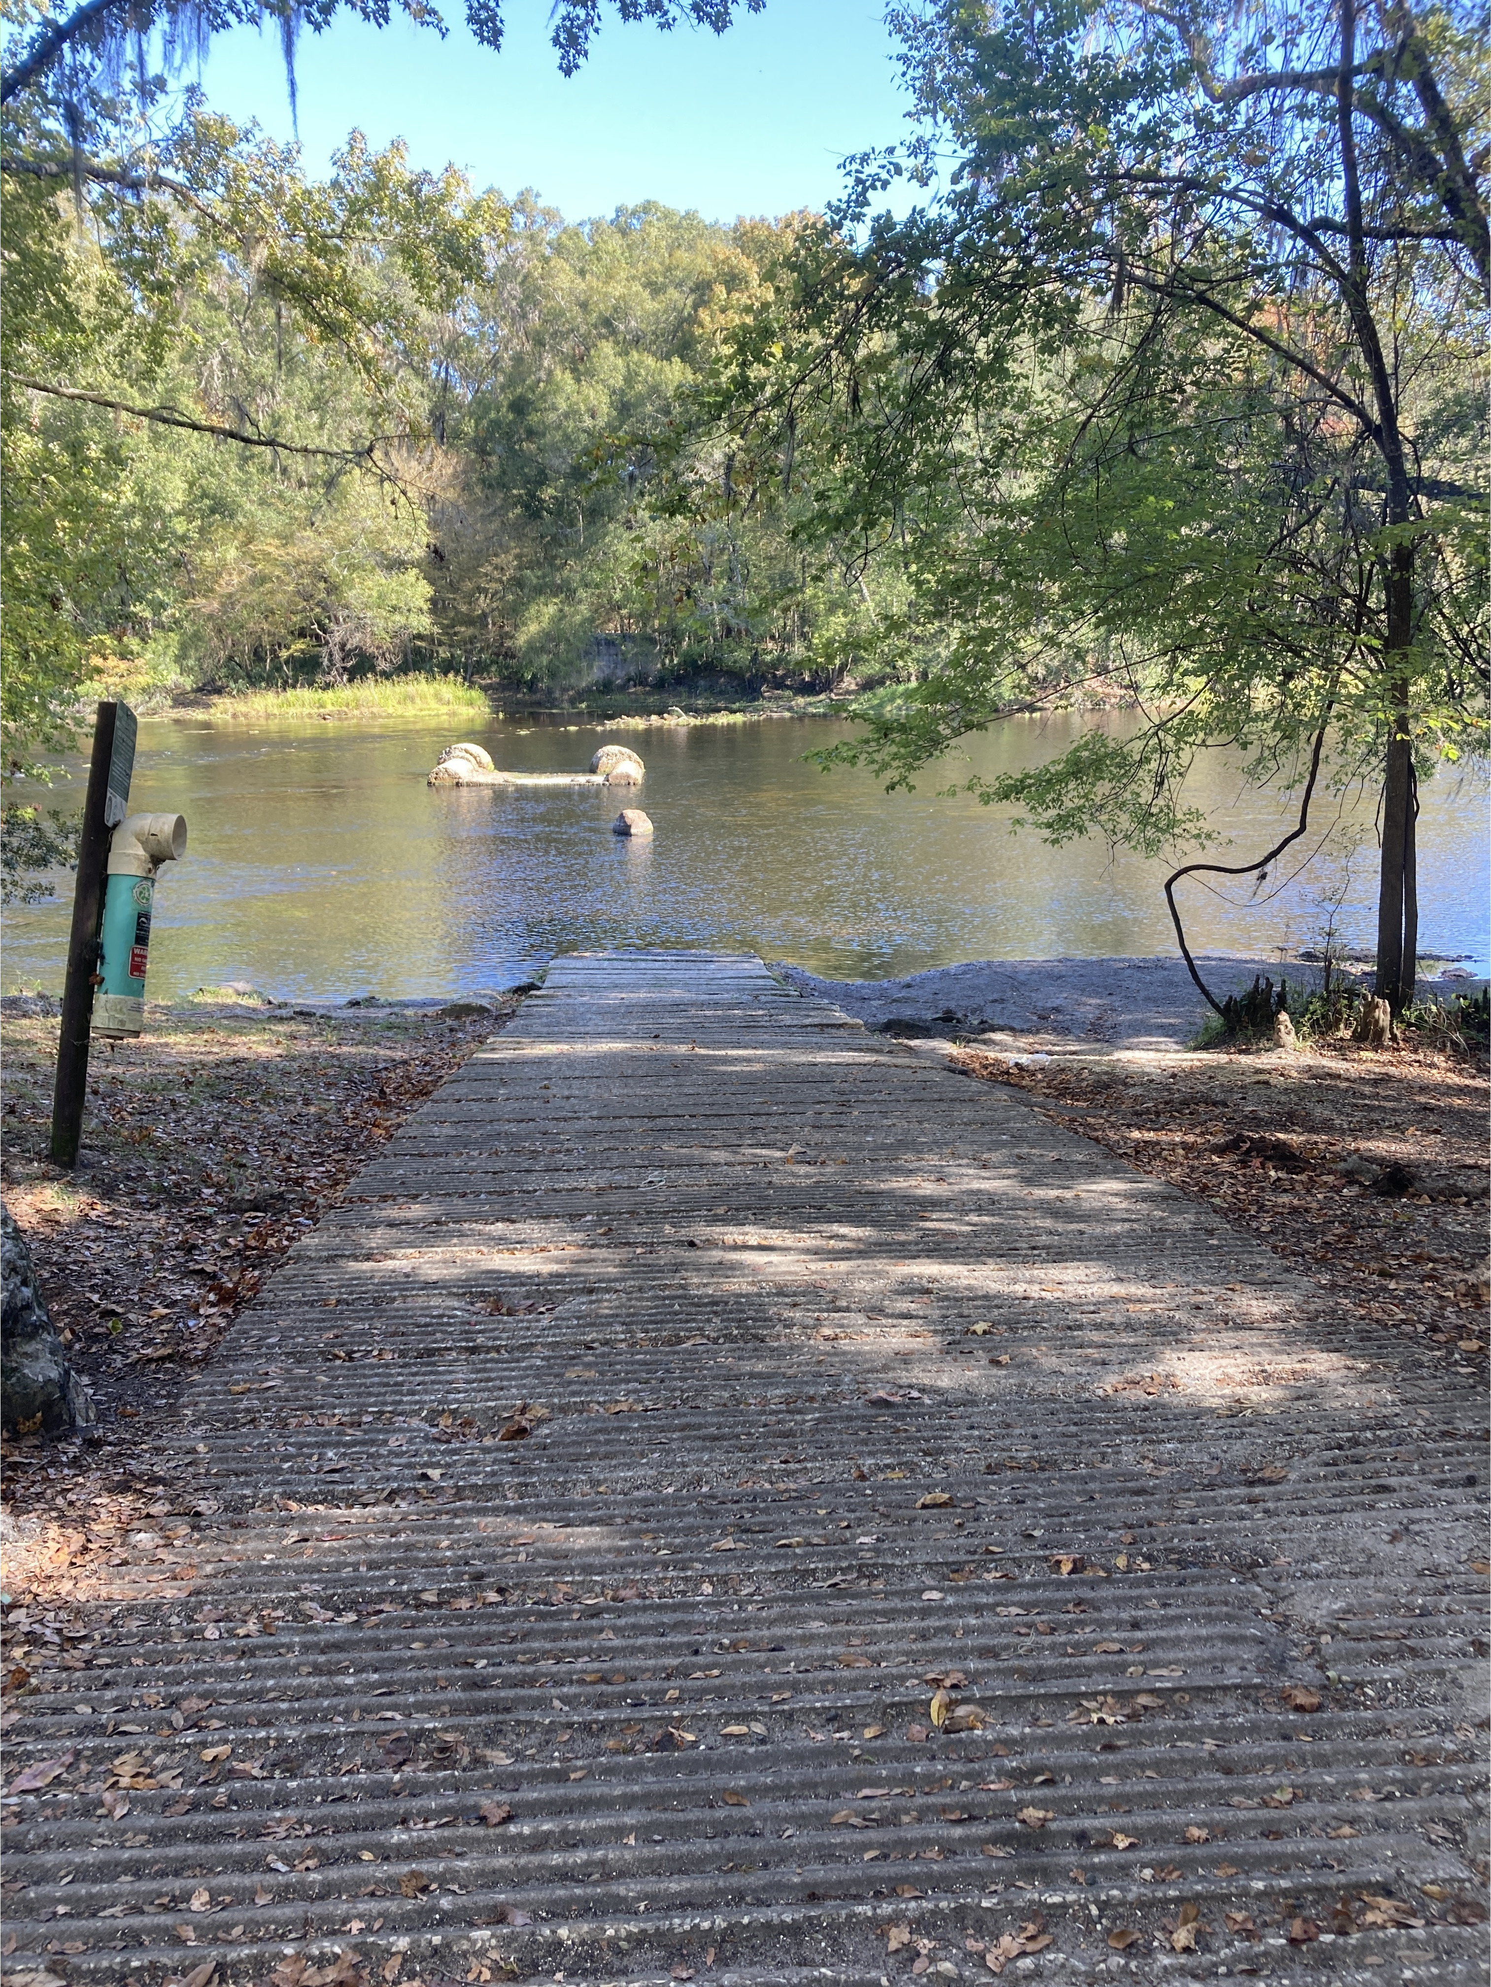
[[[1123,719],[1113,719],[1121,723]],[[1016,719],[964,757],[887,795],[803,753],[845,735],[829,719],[646,729],[491,723],[473,733],[513,771],[582,769],[602,737],[646,759],[618,789],[429,789],[457,735],[408,721],[213,725],[145,719],[133,809],[187,815],[191,844],[157,890],[151,994],[250,982],[278,997],[475,994],[511,986],[557,950],[747,948],[829,978],[881,980],[980,958],[1175,954],[1165,862],[1099,842],[1046,848],[968,797],[968,771],[1062,749],[1076,719]],[[1248,793],[1221,755],[1189,797],[1246,860],[1290,823],[1284,795]],[[642,805],[650,842],[610,821]],[[1318,944],[1330,900],[1350,946],[1374,936],[1372,801],[1316,803],[1320,837],[1290,850],[1252,900],[1185,886],[1195,950],[1268,958]],[[1487,787],[1479,773],[1425,785],[1419,821],[1421,950],[1487,958]],[[4,984],[60,990],[68,902],[6,916]]]

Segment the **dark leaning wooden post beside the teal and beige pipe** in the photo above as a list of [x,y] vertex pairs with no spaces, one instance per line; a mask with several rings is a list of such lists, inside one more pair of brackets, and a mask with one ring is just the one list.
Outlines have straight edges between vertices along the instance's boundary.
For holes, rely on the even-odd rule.
[[52,1093],[52,1162],[56,1166],[78,1164],[78,1145],[83,1135],[87,1037],[93,1021],[99,920],[103,916],[103,870],[109,858],[109,831],[123,821],[129,807],[133,769],[135,713],[127,703],[99,703],[93,721],[93,757],[87,765],[83,833],[78,841],[68,978],[62,988],[58,1081]]

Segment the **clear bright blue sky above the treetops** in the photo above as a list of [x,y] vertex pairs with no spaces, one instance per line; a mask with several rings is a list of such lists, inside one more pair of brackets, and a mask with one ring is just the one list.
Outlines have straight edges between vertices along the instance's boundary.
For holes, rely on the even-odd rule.
[[[825,205],[847,153],[907,131],[883,0],[767,0],[720,38],[624,26],[606,10],[569,79],[545,0],[509,0],[501,54],[465,30],[463,0],[441,12],[443,42],[402,18],[384,30],[338,18],[304,36],[296,77],[312,173],[356,125],[376,145],[404,137],[415,165],[453,161],[507,195],[533,187],[571,221],[644,199],[734,221]],[[278,36],[221,36],[203,83],[215,109],[292,135]]]

